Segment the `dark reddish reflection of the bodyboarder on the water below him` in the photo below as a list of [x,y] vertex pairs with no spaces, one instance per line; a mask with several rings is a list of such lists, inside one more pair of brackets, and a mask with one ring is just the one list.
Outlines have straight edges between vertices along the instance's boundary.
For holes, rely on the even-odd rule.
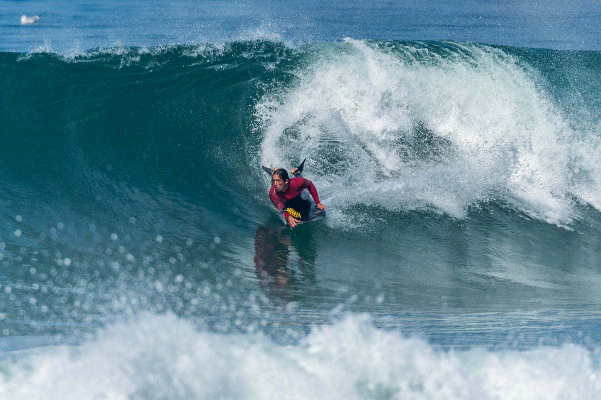
[[273,222],[255,233],[255,269],[260,284],[284,302],[291,301],[295,284],[315,282],[315,245],[309,229],[294,233]]

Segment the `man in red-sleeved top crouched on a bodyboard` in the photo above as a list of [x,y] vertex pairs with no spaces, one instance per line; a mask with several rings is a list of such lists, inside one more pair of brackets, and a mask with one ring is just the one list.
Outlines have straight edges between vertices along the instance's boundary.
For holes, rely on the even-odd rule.
[[[294,168],[290,172],[296,175],[297,170],[297,168]],[[309,216],[311,203],[301,198],[303,189],[309,190],[313,200],[315,200],[315,204],[317,204],[317,208],[320,210],[327,208],[319,202],[317,189],[309,179],[302,178],[301,176],[290,179],[288,178],[288,172],[283,168],[273,168],[272,171],[273,185],[269,190],[269,199],[271,199],[276,209],[284,210],[284,219],[288,221],[290,227],[296,227],[301,222],[301,219]]]

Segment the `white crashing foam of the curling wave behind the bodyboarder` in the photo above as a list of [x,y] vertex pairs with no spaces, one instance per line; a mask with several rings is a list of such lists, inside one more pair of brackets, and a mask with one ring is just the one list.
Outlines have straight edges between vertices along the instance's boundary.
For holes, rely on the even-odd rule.
[[256,106],[261,163],[306,156],[327,171],[312,176],[324,204],[462,218],[493,200],[558,225],[578,217],[573,194],[601,206],[599,141],[576,140],[536,71],[502,50],[349,38],[324,47],[296,85]]

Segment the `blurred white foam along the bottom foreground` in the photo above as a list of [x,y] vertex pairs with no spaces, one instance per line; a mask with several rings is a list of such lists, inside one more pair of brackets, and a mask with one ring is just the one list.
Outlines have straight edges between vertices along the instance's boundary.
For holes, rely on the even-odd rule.
[[298,345],[198,332],[142,315],[81,347],[38,349],[0,368],[0,398],[597,399],[598,368],[575,345],[437,350],[348,315]]

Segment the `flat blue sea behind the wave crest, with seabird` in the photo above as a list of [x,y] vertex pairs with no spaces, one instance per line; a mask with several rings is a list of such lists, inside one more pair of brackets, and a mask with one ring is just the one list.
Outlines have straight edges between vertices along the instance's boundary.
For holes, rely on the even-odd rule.
[[[22,14],[41,19],[21,26]],[[601,5],[587,0],[5,0],[0,51],[64,54],[122,45],[264,38],[305,44],[344,37],[601,50],[600,17]]]

